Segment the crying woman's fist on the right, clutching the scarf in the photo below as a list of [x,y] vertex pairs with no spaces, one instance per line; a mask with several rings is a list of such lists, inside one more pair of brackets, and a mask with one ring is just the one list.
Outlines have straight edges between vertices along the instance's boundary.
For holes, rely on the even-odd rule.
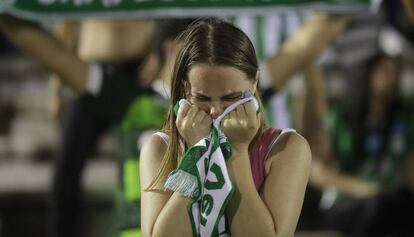
[[221,129],[237,152],[247,151],[259,129],[259,118],[253,102],[239,105],[221,121]]

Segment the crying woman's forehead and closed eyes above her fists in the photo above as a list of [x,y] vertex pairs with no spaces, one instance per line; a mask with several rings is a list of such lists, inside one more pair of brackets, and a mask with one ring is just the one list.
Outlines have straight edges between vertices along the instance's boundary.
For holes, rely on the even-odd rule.
[[243,91],[256,91],[256,83],[239,69],[229,66],[196,64],[188,73],[187,99],[213,119],[239,100]]

